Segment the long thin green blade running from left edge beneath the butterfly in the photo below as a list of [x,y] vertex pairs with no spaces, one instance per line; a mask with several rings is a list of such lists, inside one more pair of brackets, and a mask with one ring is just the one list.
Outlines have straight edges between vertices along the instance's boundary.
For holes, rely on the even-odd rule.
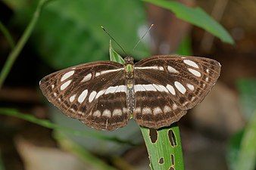
[[93,132],[93,131],[90,131],[90,132],[89,131],[77,131],[77,130],[74,130],[72,128],[67,128],[67,127],[64,127],[64,126],[61,126],[61,125],[57,125],[57,124],[52,123],[48,120],[37,119],[35,116],[20,113],[19,111],[14,110],[14,109],[10,109],[10,108],[0,108],[0,114],[7,115],[7,116],[14,116],[14,117],[17,117],[19,119],[27,120],[28,122],[33,122],[37,125],[42,125],[45,128],[52,128],[52,129],[55,129],[55,130],[65,131],[67,133],[77,135],[77,136],[89,136],[89,137],[98,138],[98,139],[101,139],[101,140],[117,142],[119,144],[135,145],[130,141],[123,141],[122,139],[118,139],[118,138],[115,138],[115,137],[109,137],[107,135],[99,134],[99,133]]

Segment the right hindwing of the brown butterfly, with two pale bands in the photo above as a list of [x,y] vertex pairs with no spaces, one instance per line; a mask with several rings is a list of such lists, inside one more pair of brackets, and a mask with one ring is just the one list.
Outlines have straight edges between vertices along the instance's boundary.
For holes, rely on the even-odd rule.
[[[160,128],[177,122],[186,111],[177,107],[176,102],[164,91],[164,86],[142,73],[135,73],[136,110],[133,118],[139,125]],[[162,90],[163,89],[163,90]],[[151,90],[151,91],[149,91]]]

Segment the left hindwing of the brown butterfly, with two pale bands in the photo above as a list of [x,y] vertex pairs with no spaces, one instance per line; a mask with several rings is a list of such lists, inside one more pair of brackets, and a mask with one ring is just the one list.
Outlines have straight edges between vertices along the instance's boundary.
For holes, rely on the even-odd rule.
[[92,101],[89,116],[81,121],[90,127],[109,131],[125,126],[130,119],[130,113],[126,109],[125,82],[123,73],[118,73],[111,79],[111,85],[98,92],[107,94],[96,96],[98,98]]

